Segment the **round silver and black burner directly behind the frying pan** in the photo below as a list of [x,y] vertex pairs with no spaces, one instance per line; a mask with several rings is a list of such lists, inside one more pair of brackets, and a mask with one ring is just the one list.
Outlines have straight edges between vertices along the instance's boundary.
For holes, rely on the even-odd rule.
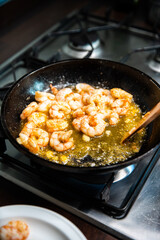
[[99,46],[100,39],[96,32],[82,32],[70,35],[69,43],[63,47],[63,51],[70,57],[83,58],[89,52],[95,52]]

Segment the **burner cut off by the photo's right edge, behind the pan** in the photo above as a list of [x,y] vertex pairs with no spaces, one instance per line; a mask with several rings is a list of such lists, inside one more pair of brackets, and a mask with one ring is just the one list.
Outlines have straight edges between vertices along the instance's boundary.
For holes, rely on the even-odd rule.
[[154,54],[150,55],[148,66],[153,71],[160,73],[160,49],[157,49]]

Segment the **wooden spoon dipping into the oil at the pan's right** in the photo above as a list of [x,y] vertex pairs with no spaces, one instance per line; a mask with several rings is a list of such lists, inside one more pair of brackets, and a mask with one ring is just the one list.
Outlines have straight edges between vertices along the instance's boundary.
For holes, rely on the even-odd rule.
[[151,111],[147,112],[143,118],[139,121],[136,127],[133,127],[129,132],[127,132],[121,140],[121,143],[124,143],[128,140],[133,134],[135,134],[140,129],[146,127],[150,122],[155,120],[160,115],[160,102],[156,104]]

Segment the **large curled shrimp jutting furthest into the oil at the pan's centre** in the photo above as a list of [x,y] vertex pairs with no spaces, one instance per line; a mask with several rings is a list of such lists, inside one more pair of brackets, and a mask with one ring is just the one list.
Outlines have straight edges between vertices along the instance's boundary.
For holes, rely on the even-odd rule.
[[97,116],[85,116],[81,121],[81,131],[89,137],[102,135],[105,127],[106,122]]

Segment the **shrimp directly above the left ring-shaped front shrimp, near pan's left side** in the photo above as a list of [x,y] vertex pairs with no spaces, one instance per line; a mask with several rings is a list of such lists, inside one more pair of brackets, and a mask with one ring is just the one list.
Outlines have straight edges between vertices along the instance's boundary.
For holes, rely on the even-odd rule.
[[34,112],[28,117],[29,122],[34,122],[36,127],[43,127],[47,121],[47,115],[41,112]]

